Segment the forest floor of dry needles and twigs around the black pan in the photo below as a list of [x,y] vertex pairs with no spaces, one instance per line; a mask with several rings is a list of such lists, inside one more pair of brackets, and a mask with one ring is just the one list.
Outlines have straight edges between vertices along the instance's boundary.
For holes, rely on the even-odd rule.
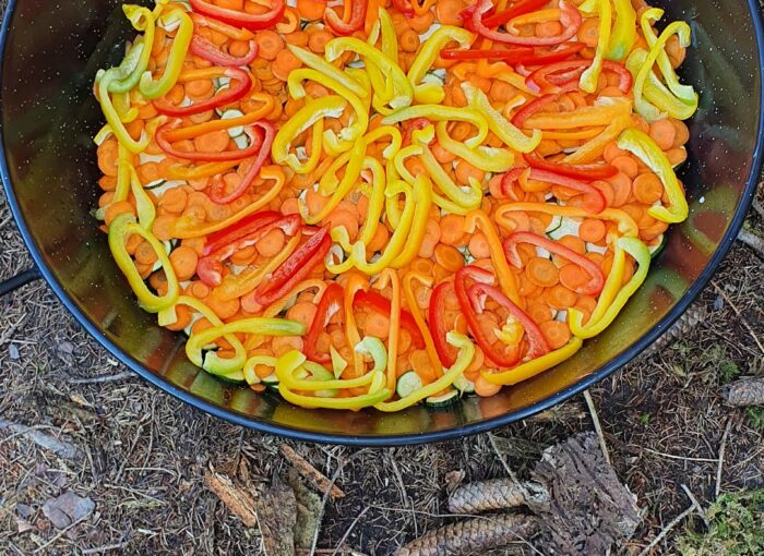
[[[748,226],[764,233],[757,216]],[[726,407],[719,395],[738,376],[764,375],[763,264],[736,245],[697,301],[709,317],[590,390],[616,471],[645,510],[619,553],[640,553],[691,505],[682,485],[703,507],[717,489],[764,486],[764,414]],[[0,279],[29,265],[0,196]],[[44,282],[0,299],[0,554],[262,554],[258,528],[230,515],[203,476],[242,461],[255,482],[286,476],[280,440],[192,410],[126,371]],[[447,473],[505,476],[504,458],[525,476],[546,447],[593,428],[580,396],[493,438],[385,449],[288,444],[329,476],[343,466],[337,485],[347,496],[329,503],[319,552],[383,555],[453,520]],[[43,448],[36,433],[67,444]],[[43,508],[67,492],[95,506],[59,529]],[[653,554],[673,553],[688,529],[703,523],[688,517]]]

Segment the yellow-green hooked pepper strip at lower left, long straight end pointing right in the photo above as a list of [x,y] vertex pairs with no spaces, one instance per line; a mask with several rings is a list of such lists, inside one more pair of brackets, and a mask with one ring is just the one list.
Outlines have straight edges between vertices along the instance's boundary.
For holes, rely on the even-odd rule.
[[241,371],[247,361],[247,351],[239,343],[235,347],[236,354],[224,359],[214,352],[202,354],[204,346],[213,340],[232,334],[256,334],[259,336],[302,336],[306,327],[302,323],[287,321],[286,318],[251,317],[234,321],[223,326],[213,326],[200,333],[191,335],[186,342],[186,356],[196,366],[213,374],[228,375]]

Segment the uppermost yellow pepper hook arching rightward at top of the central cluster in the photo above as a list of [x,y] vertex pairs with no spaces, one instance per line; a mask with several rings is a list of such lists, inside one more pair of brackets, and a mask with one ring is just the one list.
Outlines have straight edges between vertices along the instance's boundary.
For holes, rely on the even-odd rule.
[[[372,105],[378,112],[386,113],[390,110],[397,110],[411,104],[414,89],[406,78],[406,74],[403,73],[403,70],[397,65],[397,61],[390,60],[381,51],[355,37],[334,38],[326,43],[324,48],[324,57],[330,62],[333,62],[345,52],[357,53],[363,58],[367,65],[370,63],[374,64],[382,72],[384,78],[392,83],[393,97],[390,100],[384,100],[382,102],[372,99]],[[374,84],[372,82],[372,85],[375,92],[384,88],[383,84]],[[374,97],[377,97],[377,94],[374,94]],[[390,109],[386,107],[390,107]]]

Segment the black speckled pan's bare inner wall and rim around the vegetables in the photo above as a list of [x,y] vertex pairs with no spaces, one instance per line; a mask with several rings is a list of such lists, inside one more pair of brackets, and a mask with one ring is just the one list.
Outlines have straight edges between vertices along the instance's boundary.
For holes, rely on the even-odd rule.
[[183,338],[139,309],[91,216],[102,125],[92,83],[131,35],[117,0],[11,0],[3,26],[3,181],[40,270],[75,317],[122,362],[205,411],[261,431],[338,443],[417,443],[522,419],[601,379],[643,351],[687,307],[729,249],[759,171],[761,23],[751,0],[658,2],[690,22],[682,69],[701,93],[691,122],[691,218],[673,227],[649,278],[618,321],[557,368],[447,410],[324,412],[217,380],[183,355]]

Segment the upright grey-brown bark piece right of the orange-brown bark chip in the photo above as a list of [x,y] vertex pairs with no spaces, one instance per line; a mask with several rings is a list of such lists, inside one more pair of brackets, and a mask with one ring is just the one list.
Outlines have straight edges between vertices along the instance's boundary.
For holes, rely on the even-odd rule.
[[265,556],[295,555],[297,500],[293,489],[278,478],[258,493],[254,500]]

